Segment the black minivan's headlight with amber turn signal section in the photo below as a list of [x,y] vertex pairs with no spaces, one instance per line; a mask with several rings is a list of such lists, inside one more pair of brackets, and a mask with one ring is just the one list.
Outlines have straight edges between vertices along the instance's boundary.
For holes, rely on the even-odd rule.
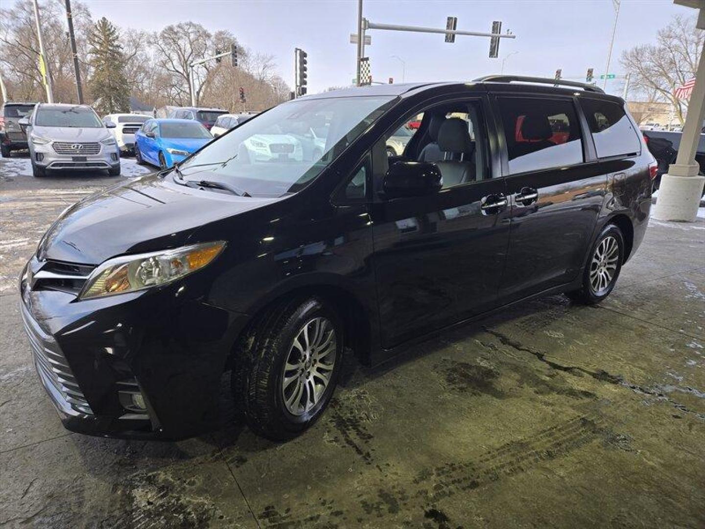
[[102,298],[171,283],[206,266],[223,248],[225,241],[215,241],[107,260],[93,271],[78,297]]

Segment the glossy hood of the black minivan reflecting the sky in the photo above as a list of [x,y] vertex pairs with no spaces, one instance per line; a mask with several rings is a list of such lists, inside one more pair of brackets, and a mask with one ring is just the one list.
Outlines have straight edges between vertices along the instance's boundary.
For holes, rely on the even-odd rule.
[[278,200],[197,190],[150,174],[66,209],[42,238],[37,257],[99,265],[117,255],[178,248],[204,224]]

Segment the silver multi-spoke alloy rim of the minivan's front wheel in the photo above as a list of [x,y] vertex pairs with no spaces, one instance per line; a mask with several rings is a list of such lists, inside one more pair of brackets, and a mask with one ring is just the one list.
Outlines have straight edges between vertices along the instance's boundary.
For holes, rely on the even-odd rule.
[[292,415],[304,415],[319,403],[336,364],[336,330],[316,317],[296,335],[284,365],[281,394]]

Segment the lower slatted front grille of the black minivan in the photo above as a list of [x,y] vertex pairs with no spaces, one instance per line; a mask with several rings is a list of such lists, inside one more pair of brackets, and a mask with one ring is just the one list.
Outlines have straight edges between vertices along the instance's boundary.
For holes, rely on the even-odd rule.
[[37,373],[41,377],[49,394],[54,397],[61,408],[71,408],[76,413],[93,415],[90,404],[76,382],[66,357],[56,340],[42,331],[39,324],[22,306],[22,319],[25,332],[30,339]]

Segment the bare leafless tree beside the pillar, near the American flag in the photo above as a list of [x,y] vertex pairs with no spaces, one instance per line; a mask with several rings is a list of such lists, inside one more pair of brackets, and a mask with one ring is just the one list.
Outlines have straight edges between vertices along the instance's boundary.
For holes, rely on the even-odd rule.
[[673,105],[680,123],[687,101],[675,97],[675,89],[695,77],[705,32],[696,28],[696,19],[674,16],[658,31],[656,44],[642,44],[625,51],[620,62],[631,75],[634,92]]

